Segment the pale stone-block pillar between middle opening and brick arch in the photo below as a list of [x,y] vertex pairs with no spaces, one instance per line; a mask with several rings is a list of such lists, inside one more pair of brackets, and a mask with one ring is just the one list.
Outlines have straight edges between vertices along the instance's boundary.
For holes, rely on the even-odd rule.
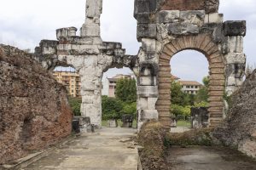
[[139,58],[139,77],[137,85],[137,110],[138,110],[138,129],[143,122],[148,120],[158,120],[159,114],[155,108],[158,100],[158,55],[157,42],[155,39],[143,38],[143,48],[141,48]]

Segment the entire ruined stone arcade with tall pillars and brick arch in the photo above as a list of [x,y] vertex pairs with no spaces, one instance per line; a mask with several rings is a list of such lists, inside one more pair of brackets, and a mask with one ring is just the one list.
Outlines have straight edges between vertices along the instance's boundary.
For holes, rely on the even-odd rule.
[[241,86],[246,56],[243,37],[246,22],[224,21],[218,0],[135,0],[137,40],[143,43],[137,56],[125,54],[119,42],[102,42],[102,0],[87,0],[85,23],[56,31],[58,41],[42,40],[35,58],[44,68],[71,65],[82,80],[83,116],[101,127],[102,74],[126,66],[137,77],[138,128],[158,119],[170,127],[170,59],[185,49],[204,54],[209,64],[209,127],[224,119],[224,92]]

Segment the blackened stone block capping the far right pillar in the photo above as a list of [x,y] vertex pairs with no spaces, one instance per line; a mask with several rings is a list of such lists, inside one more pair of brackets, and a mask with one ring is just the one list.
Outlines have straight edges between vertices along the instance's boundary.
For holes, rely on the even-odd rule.
[[245,36],[247,31],[245,20],[228,20],[224,22],[224,36]]

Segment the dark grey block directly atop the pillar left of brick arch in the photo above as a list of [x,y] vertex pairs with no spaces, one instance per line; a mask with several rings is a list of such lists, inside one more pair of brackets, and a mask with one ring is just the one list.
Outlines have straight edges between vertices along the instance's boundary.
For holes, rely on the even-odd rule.
[[156,38],[156,25],[155,24],[137,25],[137,40],[140,42],[143,37]]

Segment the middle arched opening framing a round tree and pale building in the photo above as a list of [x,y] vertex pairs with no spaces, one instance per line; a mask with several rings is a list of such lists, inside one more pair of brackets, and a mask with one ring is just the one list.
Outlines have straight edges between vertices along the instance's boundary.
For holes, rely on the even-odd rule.
[[102,127],[137,127],[137,79],[128,67],[102,75]]

